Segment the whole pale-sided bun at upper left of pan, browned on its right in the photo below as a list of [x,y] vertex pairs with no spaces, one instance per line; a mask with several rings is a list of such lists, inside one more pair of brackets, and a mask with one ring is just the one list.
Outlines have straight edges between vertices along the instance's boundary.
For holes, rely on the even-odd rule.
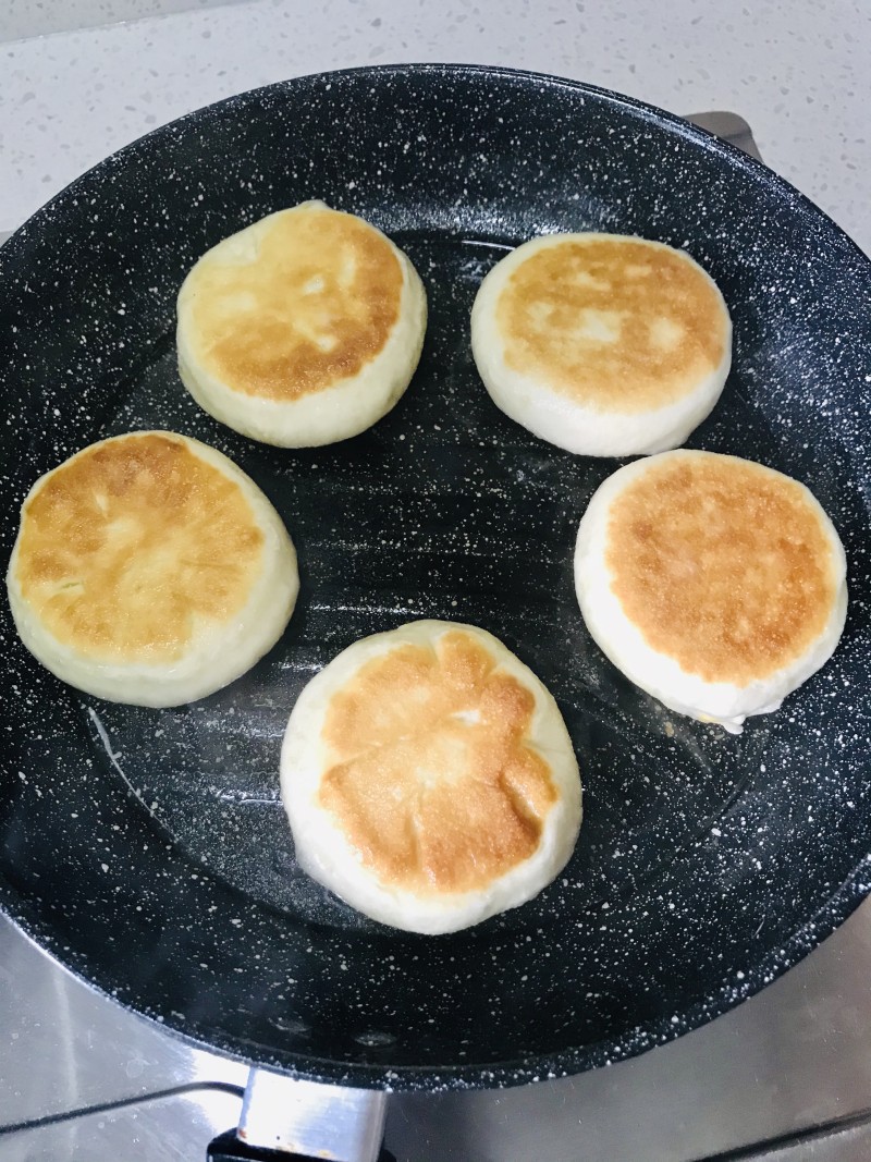
[[210,415],[281,447],[347,439],[409,386],[426,294],[353,214],[303,202],[207,251],[178,300],[179,374]]

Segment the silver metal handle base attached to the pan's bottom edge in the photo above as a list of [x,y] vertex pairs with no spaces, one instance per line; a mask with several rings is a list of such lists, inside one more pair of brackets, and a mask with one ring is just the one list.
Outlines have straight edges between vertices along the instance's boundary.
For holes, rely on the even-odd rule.
[[387,1093],[325,1085],[252,1068],[237,1131],[209,1146],[210,1162],[229,1159],[329,1159],[393,1162],[382,1150]]

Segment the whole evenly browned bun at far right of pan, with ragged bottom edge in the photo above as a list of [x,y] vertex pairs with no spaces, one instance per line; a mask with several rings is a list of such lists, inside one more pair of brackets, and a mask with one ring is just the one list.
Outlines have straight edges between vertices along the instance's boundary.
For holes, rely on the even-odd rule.
[[713,452],[664,452],[595,493],[575,548],[590,633],[671,710],[740,732],[832,655],[841,540],[798,481]]

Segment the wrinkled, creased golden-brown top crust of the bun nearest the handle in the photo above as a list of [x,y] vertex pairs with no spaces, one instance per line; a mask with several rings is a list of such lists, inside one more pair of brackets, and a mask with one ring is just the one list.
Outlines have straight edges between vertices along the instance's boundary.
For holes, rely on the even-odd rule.
[[319,802],[382,883],[487,888],[532,855],[556,798],[525,740],[533,709],[466,631],[397,646],[333,695]]

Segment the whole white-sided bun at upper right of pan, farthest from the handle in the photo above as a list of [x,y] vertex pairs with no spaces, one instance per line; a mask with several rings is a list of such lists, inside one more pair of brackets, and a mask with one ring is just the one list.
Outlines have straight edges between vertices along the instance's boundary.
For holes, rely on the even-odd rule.
[[583,456],[677,447],[732,363],[722,295],[689,254],[609,234],[557,234],[512,251],[481,284],[472,351],[494,402]]

